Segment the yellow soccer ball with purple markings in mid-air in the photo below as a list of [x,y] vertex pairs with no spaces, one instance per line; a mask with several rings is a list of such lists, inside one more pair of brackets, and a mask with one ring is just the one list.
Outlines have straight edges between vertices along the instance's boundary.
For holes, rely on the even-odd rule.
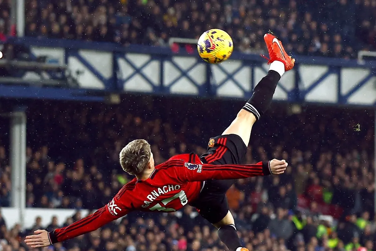
[[206,30],[197,42],[200,57],[210,64],[217,64],[228,59],[233,47],[230,35],[220,29]]

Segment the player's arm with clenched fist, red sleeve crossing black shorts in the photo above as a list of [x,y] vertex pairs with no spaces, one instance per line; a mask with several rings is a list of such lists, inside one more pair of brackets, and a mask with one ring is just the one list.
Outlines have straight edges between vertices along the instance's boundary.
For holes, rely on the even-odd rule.
[[270,174],[279,175],[285,172],[288,165],[285,160],[276,159],[249,165],[191,164],[181,160],[172,160],[169,164],[173,167],[177,180],[180,182],[232,180]]

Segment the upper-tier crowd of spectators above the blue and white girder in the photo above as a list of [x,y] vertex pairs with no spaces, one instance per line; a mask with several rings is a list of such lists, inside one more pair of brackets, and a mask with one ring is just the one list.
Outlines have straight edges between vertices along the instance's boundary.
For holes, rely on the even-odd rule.
[[25,20],[30,37],[125,46],[168,46],[171,37],[197,39],[220,28],[246,53],[261,51],[271,29],[288,52],[353,58],[357,50],[376,49],[375,13],[376,0],[28,0]]

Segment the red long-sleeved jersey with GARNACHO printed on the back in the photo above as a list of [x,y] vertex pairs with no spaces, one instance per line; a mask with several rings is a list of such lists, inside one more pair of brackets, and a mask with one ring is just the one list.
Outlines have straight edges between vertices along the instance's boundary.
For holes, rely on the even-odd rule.
[[203,164],[196,154],[180,154],[155,167],[147,180],[134,178],[107,205],[65,228],[49,232],[51,243],[94,231],[133,210],[174,212],[193,202],[205,180],[269,175],[268,162],[249,165]]

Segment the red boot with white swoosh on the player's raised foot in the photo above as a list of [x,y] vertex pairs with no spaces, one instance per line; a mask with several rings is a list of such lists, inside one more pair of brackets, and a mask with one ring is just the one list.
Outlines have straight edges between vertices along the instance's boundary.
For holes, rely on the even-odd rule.
[[264,35],[264,40],[266,46],[268,47],[269,58],[264,55],[261,55],[263,58],[268,59],[268,64],[273,61],[280,61],[285,65],[285,71],[291,70],[294,67],[295,59],[291,58],[282,45],[282,42],[278,40],[276,36],[273,35],[273,32],[266,33]]

